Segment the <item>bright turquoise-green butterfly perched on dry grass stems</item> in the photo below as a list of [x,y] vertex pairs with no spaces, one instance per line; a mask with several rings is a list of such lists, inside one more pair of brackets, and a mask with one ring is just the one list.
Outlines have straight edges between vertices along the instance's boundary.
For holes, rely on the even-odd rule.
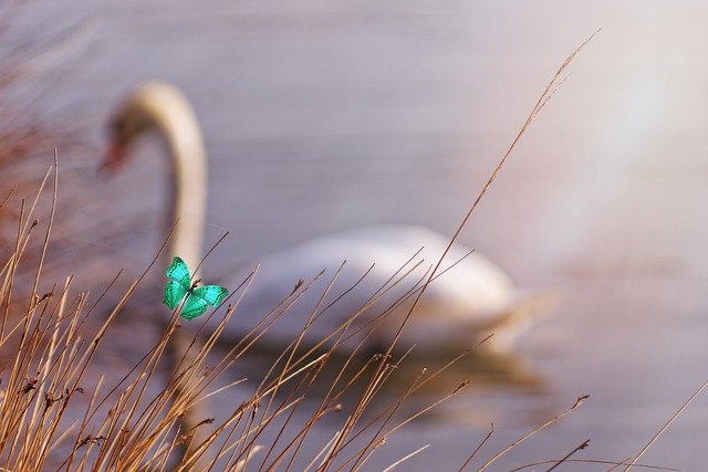
[[209,305],[220,304],[229,294],[229,291],[219,285],[196,286],[191,283],[189,269],[181,258],[174,258],[173,263],[167,269],[169,281],[165,285],[165,300],[163,303],[170,310],[179,305],[179,302],[187,295],[181,307],[181,317],[191,319],[204,315]]

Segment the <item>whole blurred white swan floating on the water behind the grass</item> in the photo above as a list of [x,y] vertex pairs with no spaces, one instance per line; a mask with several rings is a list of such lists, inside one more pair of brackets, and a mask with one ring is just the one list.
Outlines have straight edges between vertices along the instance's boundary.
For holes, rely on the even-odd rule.
[[[201,253],[207,179],[206,153],[191,106],[174,86],[152,82],[131,94],[111,123],[111,147],[105,162],[108,168],[126,160],[128,147],[136,137],[157,132],[165,139],[173,162],[170,218],[179,218],[168,255],[178,254],[195,268]],[[371,270],[354,290],[311,323],[305,334],[305,340],[321,340],[361,311],[388,283],[391,290],[384,294],[378,292],[376,301],[347,328],[347,335],[355,333],[353,340],[363,339],[369,332],[372,319],[395,305],[416,282],[425,277],[425,272],[437,262],[448,241],[447,237],[420,227],[372,227],[317,238],[267,256],[225,333],[227,336],[247,333],[293,292],[300,279],[312,280],[326,268],[329,272],[315,282],[316,286],[302,293],[267,332],[271,339],[290,342],[301,333],[315,307],[326,306]],[[396,273],[402,274],[399,270],[414,255],[403,272],[423,262],[395,284],[392,277]],[[329,276],[334,275],[344,260],[343,271],[324,303],[319,304]],[[530,316],[527,315],[537,313],[539,306],[545,306],[545,297],[529,297],[516,290],[501,269],[477,252],[470,254],[469,249],[459,244],[452,247],[441,268],[458,261],[426,290],[403,332],[403,345],[439,345],[455,338],[470,344],[493,331],[494,346],[506,347],[528,326]],[[242,276],[239,275],[232,284],[226,285],[233,287],[240,281]],[[372,345],[387,343],[398,331],[412,301],[409,297],[385,318],[377,318],[378,327],[366,338],[367,342]],[[212,318],[216,326],[218,321]]]

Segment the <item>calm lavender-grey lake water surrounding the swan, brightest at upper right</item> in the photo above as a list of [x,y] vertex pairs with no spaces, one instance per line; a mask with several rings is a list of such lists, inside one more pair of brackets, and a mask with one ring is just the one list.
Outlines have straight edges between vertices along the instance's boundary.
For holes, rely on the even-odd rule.
[[[490,421],[480,459],[581,394],[591,398],[580,410],[496,470],[563,457],[587,438],[579,457],[620,461],[707,379],[701,2],[144,3],[50,3],[32,18],[88,17],[45,114],[75,118],[98,149],[103,117],[131,86],[159,77],[184,88],[210,156],[209,241],[231,231],[209,266],[215,276],[371,223],[450,234],[552,73],[602,28],[461,237],[520,286],[555,290],[559,310],[497,359],[501,380],[389,438],[369,470],[428,443],[405,470],[457,470]],[[70,176],[97,156],[76,158],[74,170],[72,158]],[[110,249],[126,265],[156,248],[160,165],[144,159],[115,181],[86,185],[102,203],[79,217],[137,231]],[[108,251],[100,238],[82,241]],[[314,436],[333,433],[325,423]],[[702,470],[706,438],[704,396],[642,462]]]

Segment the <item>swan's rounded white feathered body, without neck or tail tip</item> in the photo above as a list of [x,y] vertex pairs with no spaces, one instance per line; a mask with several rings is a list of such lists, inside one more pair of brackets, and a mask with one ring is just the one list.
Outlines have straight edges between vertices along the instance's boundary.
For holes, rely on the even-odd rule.
[[[326,269],[325,274],[269,328],[269,336],[292,340],[346,260],[320,310],[356,286],[310,326],[306,338],[320,340],[369,303],[371,306],[350,328],[351,333],[395,305],[416,284],[425,281],[426,273],[437,263],[448,242],[448,238],[431,230],[410,225],[363,228],[306,241],[261,261],[259,273],[231,324],[250,326],[291,294],[299,279],[310,281]],[[404,339],[436,343],[460,329],[493,326],[516,302],[517,292],[511,280],[487,258],[456,244],[438,273],[455,263],[428,286],[408,322]],[[364,274],[366,276],[361,280]],[[389,289],[386,293],[381,292],[384,286]],[[377,297],[376,301],[371,300],[373,296]],[[374,336],[382,337],[382,343],[392,337],[414,298],[410,296],[383,319],[378,334]],[[365,332],[367,329],[355,338]]]

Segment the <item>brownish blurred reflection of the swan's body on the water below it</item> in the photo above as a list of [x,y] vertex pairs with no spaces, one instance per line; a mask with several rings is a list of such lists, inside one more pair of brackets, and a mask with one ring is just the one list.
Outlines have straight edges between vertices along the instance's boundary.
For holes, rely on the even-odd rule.
[[[216,354],[226,353],[231,347],[227,342],[217,345]],[[260,384],[263,375],[268,373],[274,359],[287,347],[284,344],[257,343],[253,348],[238,364],[238,368],[228,374],[222,381],[236,381],[238,379],[258,379],[251,384]],[[305,352],[302,348],[299,350]],[[323,397],[327,399],[336,397],[334,403],[342,405],[345,412],[362,398],[368,381],[372,379],[376,367],[381,361],[379,354],[361,352],[352,355],[346,352],[327,352],[326,364],[317,371],[312,385],[294,386],[295,382],[283,388],[282,397],[293,396],[292,388],[301,389],[304,400],[319,403]],[[302,365],[319,359],[324,350],[315,350],[306,357]],[[298,355],[295,356],[298,358]],[[412,349],[407,353],[396,352],[388,359],[392,369],[391,377],[377,389],[371,399],[368,411],[379,411],[397,401],[407,392],[407,398],[402,407],[404,413],[414,415],[423,408],[452,394],[457,387],[466,384],[465,391],[459,394],[459,401],[451,403],[460,406],[464,413],[455,413],[452,418],[446,418],[446,422],[472,423],[473,426],[488,426],[490,418],[489,401],[470,402],[468,399],[480,398],[492,394],[493,402],[499,400],[499,394],[503,392],[502,400],[511,397],[531,396],[543,397],[551,392],[548,380],[537,374],[519,356],[498,352],[483,347],[483,343],[472,349],[464,349],[459,346],[446,346],[437,349]],[[282,363],[279,364],[282,366]],[[278,368],[274,373],[280,371]],[[348,379],[362,371],[357,381],[347,385]],[[344,373],[344,375],[342,375]],[[335,387],[333,388],[333,385]],[[416,386],[415,388],[412,388]],[[248,387],[247,387],[248,388]],[[342,391],[340,396],[339,392]],[[531,408],[545,408],[548,405],[534,405]],[[446,409],[434,409],[431,413],[445,416]],[[535,411],[541,413],[541,411]],[[428,420],[434,418],[426,417]],[[500,421],[499,418],[496,421]]]

